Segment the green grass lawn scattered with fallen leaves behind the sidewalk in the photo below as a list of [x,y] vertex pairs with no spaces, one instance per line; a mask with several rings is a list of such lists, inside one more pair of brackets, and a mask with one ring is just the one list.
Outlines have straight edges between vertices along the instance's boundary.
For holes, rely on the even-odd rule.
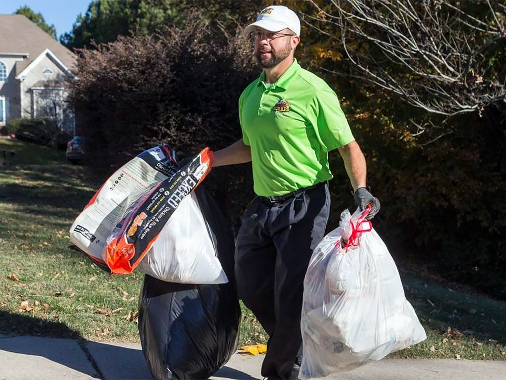
[[[138,341],[143,274],[109,276],[68,249],[68,229],[100,183],[51,149],[0,140],[5,149],[16,161],[0,167],[0,333]],[[506,302],[401,278],[428,339],[391,357],[506,360]],[[241,343],[265,343],[241,307]]]

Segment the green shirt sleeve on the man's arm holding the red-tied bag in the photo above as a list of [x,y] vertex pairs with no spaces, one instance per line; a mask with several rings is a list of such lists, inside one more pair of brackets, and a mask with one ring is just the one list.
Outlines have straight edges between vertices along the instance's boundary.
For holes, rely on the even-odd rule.
[[325,151],[355,140],[338,96],[330,87],[318,89],[311,102],[312,124]]

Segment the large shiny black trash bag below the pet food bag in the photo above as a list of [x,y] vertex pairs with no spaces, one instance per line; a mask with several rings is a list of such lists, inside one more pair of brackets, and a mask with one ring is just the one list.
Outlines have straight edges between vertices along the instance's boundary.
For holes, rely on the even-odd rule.
[[234,277],[234,241],[218,205],[195,189],[229,282],[192,285],[146,275],[139,299],[142,351],[156,379],[203,379],[237,350],[241,311]]

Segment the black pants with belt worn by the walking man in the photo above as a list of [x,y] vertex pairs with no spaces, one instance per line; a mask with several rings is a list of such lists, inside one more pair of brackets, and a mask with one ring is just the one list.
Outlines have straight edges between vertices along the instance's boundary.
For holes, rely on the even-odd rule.
[[325,182],[279,203],[256,197],[242,217],[235,277],[239,298],[269,334],[265,377],[291,376],[302,343],[304,276],[329,209]]

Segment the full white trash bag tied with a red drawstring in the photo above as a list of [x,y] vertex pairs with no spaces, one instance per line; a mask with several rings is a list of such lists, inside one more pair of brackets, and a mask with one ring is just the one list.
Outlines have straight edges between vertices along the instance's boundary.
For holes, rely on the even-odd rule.
[[301,379],[349,371],[427,338],[404,296],[385,243],[364,220],[341,214],[314,249],[304,279]]

